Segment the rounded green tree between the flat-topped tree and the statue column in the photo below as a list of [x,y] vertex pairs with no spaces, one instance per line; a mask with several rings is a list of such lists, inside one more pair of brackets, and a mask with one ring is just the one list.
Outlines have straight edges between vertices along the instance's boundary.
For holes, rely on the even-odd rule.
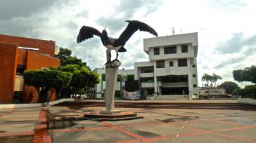
[[77,93],[79,90],[87,90],[89,87],[94,87],[95,84],[99,83],[99,75],[84,66],[79,67],[77,64],[67,64],[52,69],[68,71],[73,75],[70,84],[61,90],[63,97],[69,97],[69,95]]

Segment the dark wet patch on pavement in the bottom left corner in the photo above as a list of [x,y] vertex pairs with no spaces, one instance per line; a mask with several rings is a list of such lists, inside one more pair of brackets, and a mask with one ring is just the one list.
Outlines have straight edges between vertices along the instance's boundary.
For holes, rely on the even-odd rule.
[[1,143],[19,142],[27,143],[33,142],[34,135],[20,135],[20,136],[10,136],[10,137],[0,137]]

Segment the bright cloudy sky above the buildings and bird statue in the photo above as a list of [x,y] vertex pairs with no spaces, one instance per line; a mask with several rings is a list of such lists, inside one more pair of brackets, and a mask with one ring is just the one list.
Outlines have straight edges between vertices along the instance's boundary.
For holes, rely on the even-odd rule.
[[[76,43],[82,25],[118,37],[125,20],[141,20],[159,36],[198,32],[198,81],[203,74],[218,74],[233,81],[233,69],[256,64],[255,0],[0,0],[0,34],[56,41],[70,48],[91,69],[103,67],[105,48],[96,37]],[[148,60],[143,39],[153,35],[136,32],[120,54],[122,67],[133,69],[134,62]],[[242,83],[244,86],[248,83]]]

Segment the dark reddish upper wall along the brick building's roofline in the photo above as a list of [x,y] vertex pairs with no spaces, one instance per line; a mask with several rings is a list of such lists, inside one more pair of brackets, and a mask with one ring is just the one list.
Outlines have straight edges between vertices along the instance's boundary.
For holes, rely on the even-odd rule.
[[19,36],[8,36],[0,34],[0,42],[2,43],[16,43],[21,47],[39,48],[38,53],[50,54],[54,56],[55,41],[46,41],[40,39],[30,39]]

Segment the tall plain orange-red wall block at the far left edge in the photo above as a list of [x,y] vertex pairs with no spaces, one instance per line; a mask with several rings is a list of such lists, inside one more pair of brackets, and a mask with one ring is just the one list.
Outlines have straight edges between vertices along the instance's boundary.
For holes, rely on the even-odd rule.
[[0,43],[0,103],[13,102],[18,46]]

